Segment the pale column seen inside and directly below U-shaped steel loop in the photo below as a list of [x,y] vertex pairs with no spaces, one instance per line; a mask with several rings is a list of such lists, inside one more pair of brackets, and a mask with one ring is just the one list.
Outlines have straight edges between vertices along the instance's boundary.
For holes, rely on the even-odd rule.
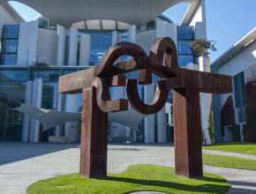
[[[149,104],[154,100],[154,84],[144,86],[145,103]],[[154,143],[154,115],[144,119],[144,142]]]

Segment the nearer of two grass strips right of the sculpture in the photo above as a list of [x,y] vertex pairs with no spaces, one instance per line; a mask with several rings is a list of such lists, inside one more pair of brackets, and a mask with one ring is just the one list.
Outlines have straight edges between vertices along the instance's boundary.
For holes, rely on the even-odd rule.
[[203,164],[216,167],[256,170],[256,160],[207,153],[203,154]]

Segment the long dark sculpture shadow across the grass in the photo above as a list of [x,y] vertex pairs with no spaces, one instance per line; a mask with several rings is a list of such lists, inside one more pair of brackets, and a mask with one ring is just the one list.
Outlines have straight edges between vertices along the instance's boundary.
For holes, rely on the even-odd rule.
[[[192,186],[183,183],[173,183],[167,181],[157,181],[157,180],[143,180],[143,179],[133,179],[133,178],[124,178],[124,177],[115,177],[115,176],[108,176],[106,178],[102,178],[105,181],[117,181],[117,182],[124,182],[124,183],[135,183],[144,186],[153,186],[153,187],[162,187],[162,188],[172,188],[175,190],[184,190],[184,191],[195,191],[195,192],[209,192],[212,193],[224,193],[225,191],[230,189],[228,185],[215,185],[212,183],[204,184],[200,186]],[[200,180],[210,181],[215,183],[226,183],[224,180],[219,180],[215,178],[207,178],[203,177]],[[148,188],[150,189],[150,188]],[[161,190],[157,190],[161,191]]]

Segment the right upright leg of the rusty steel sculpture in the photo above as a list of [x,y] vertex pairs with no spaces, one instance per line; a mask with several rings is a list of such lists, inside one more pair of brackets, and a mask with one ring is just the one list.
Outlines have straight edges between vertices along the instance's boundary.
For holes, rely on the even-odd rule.
[[200,93],[196,88],[173,91],[175,172],[186,178],[203,176]]

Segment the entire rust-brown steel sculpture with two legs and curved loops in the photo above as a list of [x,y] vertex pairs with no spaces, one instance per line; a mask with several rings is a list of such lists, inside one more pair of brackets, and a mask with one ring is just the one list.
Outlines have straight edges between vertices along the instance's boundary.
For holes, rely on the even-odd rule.
[[[120,56],[132,59],[114,64]],[[162,78],[151,104],[140,100],[136,79],[126,80],[124,74],[131,71],[138,71],[141,85],[152,83],[152,73]],[[128,100],[111,101],[112,86],[126,86]],[[130,101],[140,113],[154,114],[164,106],[169,89],[174,90],[176,175],[201,177],[200,92],[231,93],[231,77],[180,68],[177,48],[169,38],[154,41],[149,56],[136,44],[117,43],[93,68],[59,78],[59,93],[83,93],[80,175],[89,178],[107,175],[108,112],[127,110]]]

